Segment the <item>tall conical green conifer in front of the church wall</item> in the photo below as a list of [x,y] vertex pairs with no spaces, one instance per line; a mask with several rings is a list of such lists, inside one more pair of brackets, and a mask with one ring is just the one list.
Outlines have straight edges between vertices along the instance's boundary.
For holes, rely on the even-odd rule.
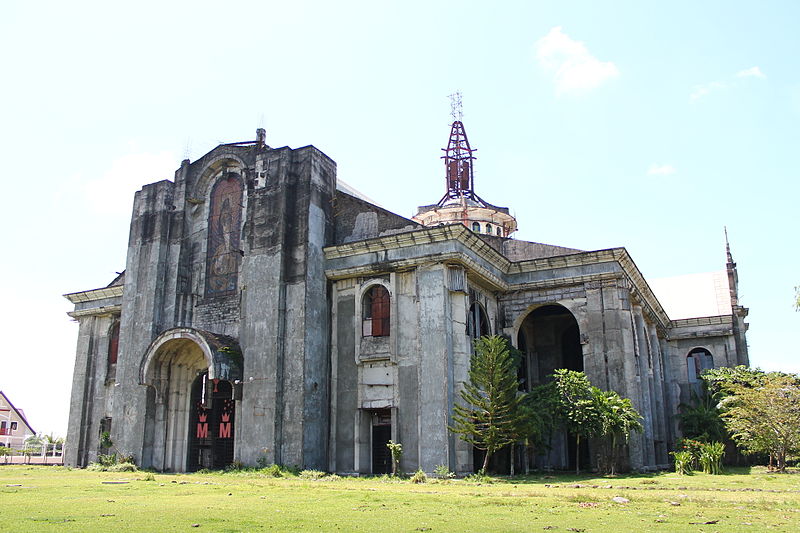
[[462,440],[484,450],[482,470],[489,458],[520,435],[522,395],[517,394],[518,361],[508,340],[498,335],[475,341],[470,358],[469,381],[461,390],[462,404],[453,408],[450,431]]

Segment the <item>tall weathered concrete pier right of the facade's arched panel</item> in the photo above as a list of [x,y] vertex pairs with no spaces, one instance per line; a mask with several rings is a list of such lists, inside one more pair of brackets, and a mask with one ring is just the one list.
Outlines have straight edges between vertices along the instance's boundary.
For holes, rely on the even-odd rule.
[[[249,191],[240,344],[239,457],[328,465],[329,304],[322,248],[333,242],[333,161],[313,148],[268,152]],[[250,380],[250,377],[253,380]]]

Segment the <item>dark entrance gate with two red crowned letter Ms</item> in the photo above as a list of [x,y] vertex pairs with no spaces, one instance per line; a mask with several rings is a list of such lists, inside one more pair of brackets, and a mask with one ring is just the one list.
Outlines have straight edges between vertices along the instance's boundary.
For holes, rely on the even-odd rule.
[[233,386],[229,381],[209,379],[208,372],[203,372],[192,383],[191,401],[186,470],[225,468],[233,462]]

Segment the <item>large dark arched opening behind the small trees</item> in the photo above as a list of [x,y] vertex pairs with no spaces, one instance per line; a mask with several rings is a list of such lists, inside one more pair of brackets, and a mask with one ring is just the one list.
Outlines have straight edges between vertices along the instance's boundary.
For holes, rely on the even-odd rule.
[[[537,307],[524,318],[517,333],[517,347],[523,353],[520,388],[530,390],[551,380],[559,368],[583,372],[583,347],[575,316],[566,307],[549,304]],[[552,436],[546,455],[528,457],[528,467],[575,468],[576,439],[564,432]],[[581,442],[580,464],[589,464],[589,445]]]

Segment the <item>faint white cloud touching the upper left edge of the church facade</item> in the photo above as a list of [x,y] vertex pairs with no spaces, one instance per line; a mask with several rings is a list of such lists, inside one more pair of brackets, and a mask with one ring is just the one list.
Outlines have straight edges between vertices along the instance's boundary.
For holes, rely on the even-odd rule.
[[84,185],[89,208],[100,215],[130,217],[133,193],[143,185],[172,179],[178,159],[170,152],[126,154],[111,162],[102,178]]

